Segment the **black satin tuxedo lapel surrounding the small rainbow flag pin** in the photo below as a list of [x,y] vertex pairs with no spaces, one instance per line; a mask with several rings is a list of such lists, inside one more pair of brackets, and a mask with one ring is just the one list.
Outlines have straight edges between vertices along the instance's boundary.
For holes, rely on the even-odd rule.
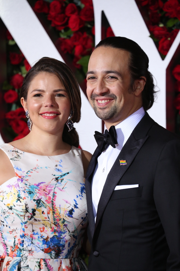
[[[116,187],[116,185],[118,184],[119,180],[122,178],[126,170],[128,170],[128,167],[131,165],[140,148],[147,140],[148,138],[147,132],[149,131],[153,123],[154,120],[152,120],[146,113],[143,119],[135,127],[134,131],[132,132],[131,136],[129,137],[126,144],[122,148],[119,156],[117,157],[113,167],[111,168],[107,176],[101,194],[101,198],[99,200],[95,229],[97,228],[97,225],[101,219],[102,214],[104,213],[104,210],[114,191],[114,188]],[[127,164],[120,165],[119,160],[126,160]]]

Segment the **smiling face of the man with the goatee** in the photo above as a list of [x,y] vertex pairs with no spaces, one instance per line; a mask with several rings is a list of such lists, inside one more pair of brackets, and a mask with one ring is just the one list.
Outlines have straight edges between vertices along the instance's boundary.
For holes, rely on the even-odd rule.
[[116,125],[141,107],[141,96],[137,100],[135,92],[130,91],[128,63],[128,51],[110,47],[98,47],[90,57],[87,96],[105,123]]

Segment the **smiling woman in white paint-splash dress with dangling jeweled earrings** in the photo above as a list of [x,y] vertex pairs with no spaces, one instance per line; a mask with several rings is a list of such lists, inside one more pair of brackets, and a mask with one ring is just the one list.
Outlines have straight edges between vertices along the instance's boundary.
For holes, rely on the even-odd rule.
[[41,58],[25,76],[21,103],[30,133],[0,149],[0,271],[82,271],[87,226],[78,147],[80,91],[66,64]]

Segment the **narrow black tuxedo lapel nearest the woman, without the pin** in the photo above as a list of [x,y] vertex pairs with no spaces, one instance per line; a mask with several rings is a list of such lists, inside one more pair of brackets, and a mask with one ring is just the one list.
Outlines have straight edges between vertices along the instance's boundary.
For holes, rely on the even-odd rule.
[[86,191],[86,200],[87,200],[87,207],[88,207],[89,229],[90,229],[92,237],[93,237],[94,229],[95,229],[95,217],[94,217],[93,207],[92,207],[91,181],[92,181],[93,173],[95,171],[95,167],[97,165],[97,159],[100,154],[101,153],[99,152],[99,149],[96,148],[89,162],[88,170],[86,173],[86,179],[85,179],[85,191]]

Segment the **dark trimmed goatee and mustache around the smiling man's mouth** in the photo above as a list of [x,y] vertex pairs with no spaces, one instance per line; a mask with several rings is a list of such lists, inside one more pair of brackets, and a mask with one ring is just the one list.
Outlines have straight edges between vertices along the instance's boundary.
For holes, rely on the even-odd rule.
[[[105,96],[106,96],[106,99],[113,98],[113,99],[115,99],[115,101],[117,99],[116,95],[114,95],[114,94],[107,94]],[[106,111],[105,107],[102,107],[102,108],[98,107],[97,108],[96,105],[95,105],[95,98],[97,98],[97,97],[100,98],[100,99],[103,98],[103,96],[99,96],[99,95],[96,95],[96,94],[91,95],[91,101],[93,103],[93,109],[95,111],[96,116],[98,118],[100,118],[101,120],[110,120],[118,112],[117,104],[114,104],[108,111]]]

